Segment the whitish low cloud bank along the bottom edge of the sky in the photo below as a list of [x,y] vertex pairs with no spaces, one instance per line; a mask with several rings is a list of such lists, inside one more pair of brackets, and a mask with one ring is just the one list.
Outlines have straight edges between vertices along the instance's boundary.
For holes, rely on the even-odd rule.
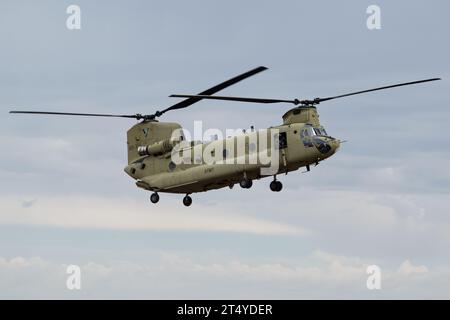
[[[448,266],[427,268],[404,261],[398,269],[381,266],[382,290],[370,291],[367,265],[357,257],[314,251],[289,263],[250,263],[163,252],[151,263],[87,262],[80,265],[82,290],[69,291],[67,265],[39,257],[0,257],[0,287],[8,288],[0,297],[445,298],[450,278]],[[190,290],[181,290],[185,286]]]

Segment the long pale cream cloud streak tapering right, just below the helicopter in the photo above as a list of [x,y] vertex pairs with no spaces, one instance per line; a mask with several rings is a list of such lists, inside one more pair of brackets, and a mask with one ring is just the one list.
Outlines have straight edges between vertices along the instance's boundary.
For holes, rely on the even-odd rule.
[[[156,206],[128,198],[89,198],[75,196],[39,197],[24,206],[14,197],[0,197],[0,224],[24,224],[56,228],[110,230],[210,231],[264,235],[306,235],[301,227],[220,208],[181,203]],[[189,210],[191,209],[191,210]]]

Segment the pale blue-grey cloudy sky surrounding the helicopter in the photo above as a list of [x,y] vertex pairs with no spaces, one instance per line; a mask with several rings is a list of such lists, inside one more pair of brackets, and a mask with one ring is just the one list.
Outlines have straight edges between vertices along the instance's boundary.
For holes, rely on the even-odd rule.
[[[81,29],[66,27],[69,5]],[[366,25],[369,5],[381,29]],[[448,1],[1,1],[0,298],[448,299]],[[314,98],[347,140],[250,190],[160,194],[124,172],[129,119],[264,65],[221,92]],[[164,121],[266,128],[287,105],[202,101]],[[81,268],[68,290],[66,268]],[[381,270],[369,290],[367,267]]]

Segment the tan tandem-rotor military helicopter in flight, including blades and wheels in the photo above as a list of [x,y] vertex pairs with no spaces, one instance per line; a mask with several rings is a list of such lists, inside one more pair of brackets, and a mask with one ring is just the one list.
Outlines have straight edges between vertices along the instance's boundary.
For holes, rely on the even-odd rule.
[[[252,77],[267,67],[260,66],[242,73],[196,95],[172,94],[183,98],[153,114],[98,114],[49,111],[10,111],[11,114],[60,115],[85,117],[119,117],[138,121],[127,131],[128,164],[124,171],[136,186],[151,192],[150,201],[158,203],[160,193],[184,194],[183,204],[192,204],[191,194],[239,184],[250,189],[254,180],[272,177],[269,187],[273,192],[283,188],[277,179],[280,174],[306,168],[333,156],[343,142],[330,136],[319,121],[317,105],[333,99],[441,80],[431,78],[413,82],[377,87],[325,98],[265,99],[218,96],[215,93],[244,79]],[[294,105],[282,116],[283,123],[264,130],[244,131],[240,135],[213,141],[188,141],[183,128],[175,122],[160,122],[168,111],[183,109],[201,100],[222,100],[248,103]],[[265,153],[271,161],[262,161]],[[200,155],[200,156],[199,156]],[[212,161],[205,161],[205,156]],[[176,158],[177,161],[174,161]],[[267,157],[266,157],[267,158]],[[181,161],[180,161],[181,159]]]

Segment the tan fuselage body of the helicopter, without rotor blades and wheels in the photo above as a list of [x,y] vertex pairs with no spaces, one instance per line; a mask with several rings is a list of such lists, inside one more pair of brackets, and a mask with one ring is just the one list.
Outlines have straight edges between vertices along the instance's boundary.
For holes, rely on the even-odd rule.
[[[309,165],[332,156],[340,145],[320,125],[315,107],[291,109],[283,116],[282,125],[265,131],[251,130],[207,143],[184,142],[177,148],[183,137],[180,135],[177,140],[173,133],[180,129],[177,123],[144,121],[128,131],[125,172],[137,180],[138,187],[184,194],[232,187],[243,178],[260,179],[305,166],[309,169]],[[265,135],[266,139],[262,139]],[[174,150],[182,163],[175,164]],[[267,172],[270,165],[258,156],[271,156],[273,150],[277,156],[276,171],[267,174],[264,168]],[[205,161],[205,155],[216,160]]]

